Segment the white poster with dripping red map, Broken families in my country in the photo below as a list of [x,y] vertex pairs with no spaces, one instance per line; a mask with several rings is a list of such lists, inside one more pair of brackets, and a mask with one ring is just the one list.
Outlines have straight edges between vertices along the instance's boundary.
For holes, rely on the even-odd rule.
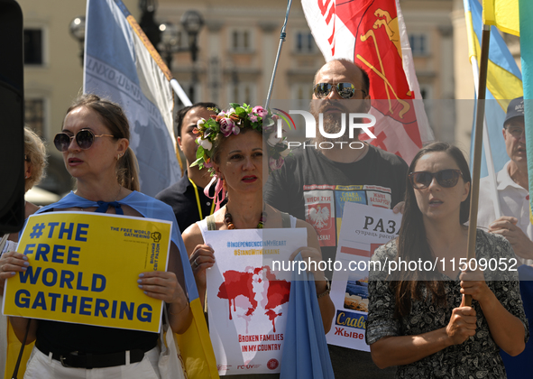
[[289,256],[308,245],[307,229],[208,231],[204,237],[216,256],[207,270],[207,304],[218,373],[279,373]]

